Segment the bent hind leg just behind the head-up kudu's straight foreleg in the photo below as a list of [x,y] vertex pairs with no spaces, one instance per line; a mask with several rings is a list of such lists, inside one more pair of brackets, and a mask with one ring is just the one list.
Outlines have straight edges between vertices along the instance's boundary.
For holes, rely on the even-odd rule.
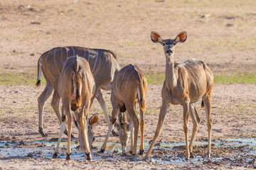
[[189,113],[191,115],[191,119],[193,122],[193,132],[191,135],[191,141],[189,142],[189,152],[192,153],[193,152],[193,143],[195,141],[195,137],[196,137],[196,132],[198,131],[198,127],[199,127],[199,123],[201,122],[201,119],[196,111],[196,107],[193,106],[193,104],[191,103],[189,105]]

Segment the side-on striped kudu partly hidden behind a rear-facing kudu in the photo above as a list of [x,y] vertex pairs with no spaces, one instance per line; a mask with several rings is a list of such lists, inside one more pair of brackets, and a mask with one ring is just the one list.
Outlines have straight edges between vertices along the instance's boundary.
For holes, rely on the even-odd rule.
[[[42,72],[46,78],[46,88],[38,97],[38,131],[43,137],[47,136],[47,134],[43,131],[43,106],[50,94],[53,93],[51,106],[53,107],[53,110],[61,123],[58,79],[65,60],[67,60],[67,58],[70,56],[76,55],[84,57],[89,62],[91,72],[95,78],[95,94],[91,98],[90,105],[92,105],[92,101],[96,97],[107,120],[107,125],[110,125],[110,118],[107,114],[107,106],[102,96],[102,89],[106,91],[111,90],[114,74],[117,74],[120,69],[114,53],[110,50],[90,49],[85,47],[55,47],[47,52],[44,52],[38,60],[38,79],[36,86],[40,86],[41,84]],[[67,129],[65,129],[64,133],[66,135],[68,134]]]

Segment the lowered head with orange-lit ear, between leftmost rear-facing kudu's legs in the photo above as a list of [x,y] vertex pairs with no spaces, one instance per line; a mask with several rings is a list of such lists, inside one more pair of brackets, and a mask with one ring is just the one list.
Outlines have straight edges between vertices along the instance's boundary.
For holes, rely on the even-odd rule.
[[[76,117],[78,118],[78,117]],[[73,117],[73,120],[75,121],[75,126],[78,128],[79,131],[79,135],[78,135],[78,141],[79,141],[79,145],[82,149],[85,149],[85,141],[83,140],[83,132],[82,132],[82,128],[80,127],[80,125],[85,125],[85,123],[80,123],[80,118],[78,118],[77,120],[75,120],[75,118]],[[92,142],[95,140],[95,138],[93,137],[93,129],[95,128],[95,125],[97,124],[99,120],[99,117],[95,114],[92,115],[92,117],[87,121],[87,127],[86,132],[87,132],[87,137],[88,137],[88,142],[89,142],[89,146],[90,149],[92,147]],[[85,121],[84,118],[82,118],[82,121]]]

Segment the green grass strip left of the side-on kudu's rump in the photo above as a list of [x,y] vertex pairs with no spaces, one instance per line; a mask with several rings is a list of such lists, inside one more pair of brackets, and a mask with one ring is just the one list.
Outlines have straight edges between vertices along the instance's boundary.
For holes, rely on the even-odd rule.
[[[36,72],[11,72],[0,74],[1,85],[28,85],[36,84]],[[46,79],[41,78],[41,84],[46,84]]]

